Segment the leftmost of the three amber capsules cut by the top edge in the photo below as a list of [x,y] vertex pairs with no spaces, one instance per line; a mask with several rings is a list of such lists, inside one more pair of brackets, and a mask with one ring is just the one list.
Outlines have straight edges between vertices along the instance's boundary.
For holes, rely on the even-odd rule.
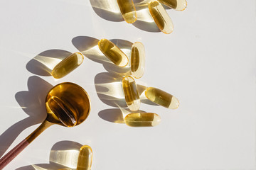
[[127,23],[134,23],[137,20],[137,13],[132,0],[117,0],[122,17]]

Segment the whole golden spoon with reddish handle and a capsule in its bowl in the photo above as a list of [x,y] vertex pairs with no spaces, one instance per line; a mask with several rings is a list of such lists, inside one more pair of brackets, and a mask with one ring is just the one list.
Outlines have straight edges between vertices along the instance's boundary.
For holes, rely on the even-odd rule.
[[0,159],[0,169],[11,162],[38,135],[53,124],[73,127],[79,125],[90,113],[90,98],[82,87],[73,83],[54,86],[46,96],[47,117],[43,123]]

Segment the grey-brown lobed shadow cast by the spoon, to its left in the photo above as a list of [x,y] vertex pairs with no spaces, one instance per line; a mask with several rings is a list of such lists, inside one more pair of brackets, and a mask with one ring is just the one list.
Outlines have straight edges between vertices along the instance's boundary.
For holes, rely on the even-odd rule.
[[0,156],[6,152],[16,137],[28,127],[43,122],[46,118],[46,94],[53,86],[43,79],[33,76],[28,78],[28,91],[19,91],[15,94],[16,101],[28,118],[11,125],[0,135]]

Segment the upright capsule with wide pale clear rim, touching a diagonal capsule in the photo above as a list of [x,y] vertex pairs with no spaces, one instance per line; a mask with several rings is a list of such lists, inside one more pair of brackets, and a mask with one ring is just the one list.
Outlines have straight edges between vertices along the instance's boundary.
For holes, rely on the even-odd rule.
[[142,42],[134,42],[131,52],[131,72],[132,76],[139,79],[144,74],[145,50]]

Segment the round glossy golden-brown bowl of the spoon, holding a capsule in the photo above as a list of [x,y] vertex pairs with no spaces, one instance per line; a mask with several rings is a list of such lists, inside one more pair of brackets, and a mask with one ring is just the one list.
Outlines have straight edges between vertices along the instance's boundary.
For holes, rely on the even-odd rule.
[[[88,117],[90,106],[89,95],[82,87],[69,82],[58,84],[46,96],[46,120],[67,127],[79,125]],[[70,125],[70,120],[76,123]]]

